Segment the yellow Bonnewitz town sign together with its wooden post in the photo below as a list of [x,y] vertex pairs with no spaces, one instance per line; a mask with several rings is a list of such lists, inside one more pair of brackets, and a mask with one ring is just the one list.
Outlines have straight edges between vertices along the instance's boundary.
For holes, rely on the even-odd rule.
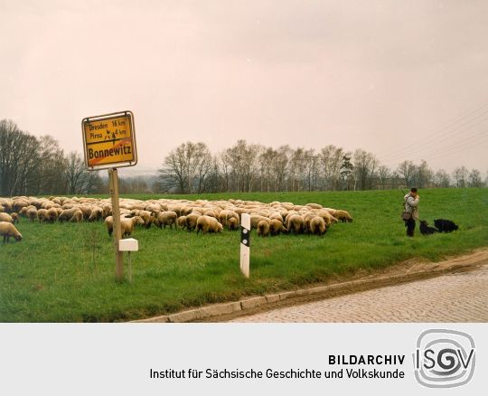
[[85,165],[89,171],[108,169],[108,185],[112,198],[114,249],[117,281],[124,280],[124,256],[120,251],[122,239],[120,208],[118,205],[117,168],[137,164],[136,128],[132,111],[83,118],[81,121]]

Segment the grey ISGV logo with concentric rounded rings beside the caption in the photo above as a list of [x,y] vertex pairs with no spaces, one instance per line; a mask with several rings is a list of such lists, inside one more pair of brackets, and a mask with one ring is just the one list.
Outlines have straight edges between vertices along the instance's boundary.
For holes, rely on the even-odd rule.
[[432,329],[418,336],[413,354],[415,377],[428,388],[454,388],[474,374],[474,340],[455,330]]

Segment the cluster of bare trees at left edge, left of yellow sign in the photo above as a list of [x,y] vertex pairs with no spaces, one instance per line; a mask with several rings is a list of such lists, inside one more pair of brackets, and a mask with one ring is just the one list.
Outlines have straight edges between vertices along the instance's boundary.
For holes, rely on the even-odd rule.
[[33,137],[0,120],[0,196],[99,193],[98,172],[79,153],[65,154],[52,137]]

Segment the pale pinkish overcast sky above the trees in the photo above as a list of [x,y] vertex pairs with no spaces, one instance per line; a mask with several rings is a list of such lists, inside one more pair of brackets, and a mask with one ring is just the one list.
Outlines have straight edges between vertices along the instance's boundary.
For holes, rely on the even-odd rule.
[[488,169],[487,1],[0,0],[0,43],[0,118],[66,151],[130,109],[141,169],[239,138]]

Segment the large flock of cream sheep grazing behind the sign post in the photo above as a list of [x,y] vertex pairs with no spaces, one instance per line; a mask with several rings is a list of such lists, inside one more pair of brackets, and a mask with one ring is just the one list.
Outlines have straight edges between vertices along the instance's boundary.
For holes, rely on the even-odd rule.
[[[239,229],[240,216],[249,213],[251,228],[261,237],[280,232],[323,235],[335,222],[352,222],[351,215],[340,209],[324,208],[318,203],[260,203],[242,200],[120,200],[120,223],[123,236],[136,225],[145,228],[180,228],[203,233]],[[112,205],[109,199],[78,197],[0,198],[0,235],[22,240],[14,224],[19,217],[38,222],[104,221],[108,234],[113,231]]]

